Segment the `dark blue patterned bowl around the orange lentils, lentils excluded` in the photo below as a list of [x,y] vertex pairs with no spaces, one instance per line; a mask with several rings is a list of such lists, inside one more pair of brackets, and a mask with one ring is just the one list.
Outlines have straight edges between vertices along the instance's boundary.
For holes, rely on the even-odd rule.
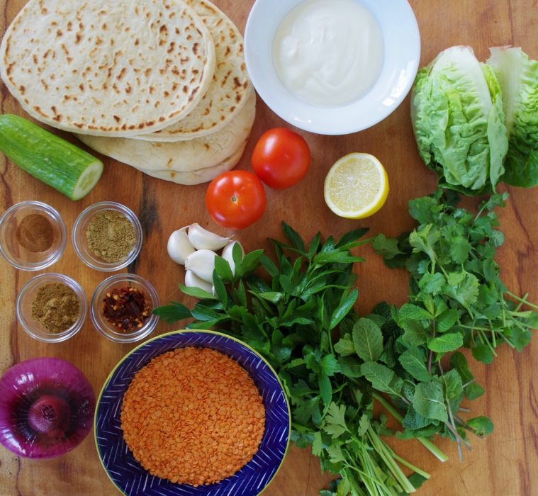
[[[220,483],[193,487],[150,475],[123,441],[120,412],[123,394],[135,373],[155,356],[184,346],[215,349],[235,359],[250,373],[265,406],[265,432],[257,453],[239,472]],[[288,400],[275,371],[250,346],[212,331],[176,331],[150,339],[130,351],[103,385],[94,422],[101,463],[118,489],[127,496],[254,496],[269,484],[288,449],[291,416]]]

